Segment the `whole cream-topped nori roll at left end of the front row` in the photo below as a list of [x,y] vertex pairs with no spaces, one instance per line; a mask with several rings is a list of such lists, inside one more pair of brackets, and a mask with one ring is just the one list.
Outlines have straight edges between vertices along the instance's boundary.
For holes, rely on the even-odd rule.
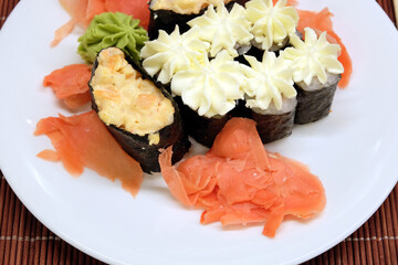
[[224,124],[234,116],[239,99],[244,98],[241,64],[223,50],[212,60],[207,54],[179,71],[171,80],[171,92],[180,97],[188,134],[211,147]]

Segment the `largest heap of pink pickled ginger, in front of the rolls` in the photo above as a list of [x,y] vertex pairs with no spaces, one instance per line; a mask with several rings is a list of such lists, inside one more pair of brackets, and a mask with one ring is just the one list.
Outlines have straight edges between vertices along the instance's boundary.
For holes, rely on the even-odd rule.
[[273,237],[284,216],[307,219],[325,208],[320,179],[302,163],[268,152],[251,119],[229,120],[206,156],[176,167],[171,153],[168,148],[159,156],[165,182],[179,202],[205,210],[202,224],[263,223],[262,233]]

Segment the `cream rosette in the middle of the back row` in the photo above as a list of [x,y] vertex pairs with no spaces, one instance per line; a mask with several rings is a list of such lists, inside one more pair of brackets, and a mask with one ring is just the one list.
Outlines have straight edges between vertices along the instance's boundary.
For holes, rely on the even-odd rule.
[[217,4],[216,10],[211,4],[202,15],[190,20],[188,24],[200,26],[199,38],[210,42],[212,57],[221,50],[227,50],[235,57],[239,55],[235,46],[250,45],[253,39],[245,9],[240,4],[233,4],[230,12],[222,1]]

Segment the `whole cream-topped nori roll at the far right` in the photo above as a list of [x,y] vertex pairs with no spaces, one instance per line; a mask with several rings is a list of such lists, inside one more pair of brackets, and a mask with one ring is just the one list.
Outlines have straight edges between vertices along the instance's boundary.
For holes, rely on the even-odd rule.
[[291,62],[293,81],[297,89],[295,124],[308,124],[326,117],[344,67],[338,62],[341,46],[327,41],[326,32],[320,36],[305,28],[305,40],[291,35],[292,47],[283,52]]

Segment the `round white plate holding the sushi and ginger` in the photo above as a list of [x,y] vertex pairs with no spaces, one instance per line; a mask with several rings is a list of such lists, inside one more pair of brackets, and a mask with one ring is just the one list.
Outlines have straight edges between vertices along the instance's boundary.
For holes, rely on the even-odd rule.
[[327,205],[317,219],[286,221],[275,239],[261,235],[261,225],[201,225],[200,211],[178,204],[159,176],[146,178],[133,199],[91,170],[75,179],[61,163],[38,159],[51,144],[33,137],[36,121],[71,114],[41,86],[43,76],[82,62],[82,32],[49,46],[69,20],[52,0],[22,1],[0,32],[1,170],[44,225],[112,264],[287,264],[327,251],[359,227],[397,182],[398,34],[374,0],[302,0],[301,7],[326,6],[354,61],[349,87],[337,92],[329,117],[296,126],[291,137],[268,146],[320,176]]

